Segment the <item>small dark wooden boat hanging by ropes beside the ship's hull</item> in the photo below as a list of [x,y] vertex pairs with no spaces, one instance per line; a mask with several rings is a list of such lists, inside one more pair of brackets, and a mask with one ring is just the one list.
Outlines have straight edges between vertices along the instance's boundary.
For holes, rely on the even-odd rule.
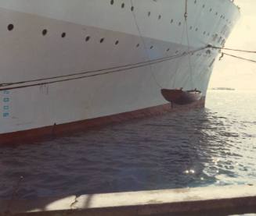
[[192,104],[195,101],[199,101],[202,97],[200,90],[182,90],[182,89],[162,89],[161,94],[166,101],[174,104],[186,105]]

